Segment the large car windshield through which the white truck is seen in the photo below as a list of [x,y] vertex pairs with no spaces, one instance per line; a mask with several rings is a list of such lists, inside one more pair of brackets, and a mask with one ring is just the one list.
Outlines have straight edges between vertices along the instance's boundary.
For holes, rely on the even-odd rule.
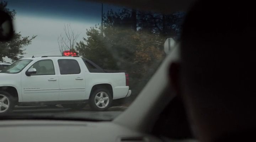
[[[63,119],[112,120],[125,111],[165,59],[167,39],[179,40],[185,16],[84,0],[6,0],[0,9],[15,26],[14,38],[0,42],[0,62],[14,62],[0,86],[22,88],[0,113]],[[31,62],[23,58],[37,60],[31,72],[7,74]]]

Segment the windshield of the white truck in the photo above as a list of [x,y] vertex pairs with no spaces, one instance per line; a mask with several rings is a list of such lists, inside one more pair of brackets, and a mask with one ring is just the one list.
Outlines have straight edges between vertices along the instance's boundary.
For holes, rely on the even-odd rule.
[[18,73],[21,72],[32,60],[18,60],[11,64],[10,66],[6,67],[1,72],[4,73]]

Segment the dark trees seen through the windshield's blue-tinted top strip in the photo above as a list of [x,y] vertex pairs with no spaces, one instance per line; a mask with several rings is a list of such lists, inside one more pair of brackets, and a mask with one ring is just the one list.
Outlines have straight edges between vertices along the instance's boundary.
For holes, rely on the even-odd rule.
[[135,9],[113,10],[104,14],[105,26],[132,28],[161,34],[164,38],[178,39],[185,12],[174,12],[165,15],[157,12],[145,12]]

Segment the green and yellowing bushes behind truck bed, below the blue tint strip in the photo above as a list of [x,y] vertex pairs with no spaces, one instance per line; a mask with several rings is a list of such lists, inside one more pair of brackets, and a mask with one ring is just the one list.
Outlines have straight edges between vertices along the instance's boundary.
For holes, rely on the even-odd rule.
[[100,29],[88,29],[88,38],[77,43],[76,50],[103,69],[126,70],[133,94],[138,94],[164,59],[164,40],[153,33],[128,28],[108,26],[102,34]]

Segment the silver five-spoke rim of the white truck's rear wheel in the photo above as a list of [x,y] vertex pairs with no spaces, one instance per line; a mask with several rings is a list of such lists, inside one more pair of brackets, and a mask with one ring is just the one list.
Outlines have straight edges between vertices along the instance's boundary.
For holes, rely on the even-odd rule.
[[98,108],[106,108],[109,104],[110,98],[106,92],[98,92],[95,95],[94,102]]

